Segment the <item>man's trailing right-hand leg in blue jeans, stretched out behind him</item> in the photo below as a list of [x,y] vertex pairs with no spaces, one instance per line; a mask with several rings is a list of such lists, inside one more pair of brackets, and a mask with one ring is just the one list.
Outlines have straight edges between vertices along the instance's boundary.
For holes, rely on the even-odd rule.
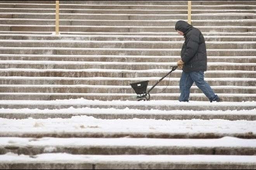
[[202,90],[202,92],[210,101],[215,101],[218,99],[218,96],[213,92],[213,89],[209,86],[207,82],[204,81],[203,71],[191,72],[190,76],[195,82],[195,85]]

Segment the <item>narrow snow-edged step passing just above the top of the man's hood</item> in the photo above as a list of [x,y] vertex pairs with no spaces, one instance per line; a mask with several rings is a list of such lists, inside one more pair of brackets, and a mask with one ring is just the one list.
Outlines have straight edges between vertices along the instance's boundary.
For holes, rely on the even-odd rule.
[[[249,12],[227,12],[227,13],[214,13],[215,15],[210,15],[209,13],[202,14],[192,14],[192,19],[255,19],[255,13]],[[21,12],[1,12],[1,18],[13,18],[13,19],[55,19],[55,13],[21,13]],[[169,20],[169,19],[183,19],[187,20],[187,14],[60,14],[60,19],[117,19],[117,20]],[[193,21],[192,20],[192,21]]]

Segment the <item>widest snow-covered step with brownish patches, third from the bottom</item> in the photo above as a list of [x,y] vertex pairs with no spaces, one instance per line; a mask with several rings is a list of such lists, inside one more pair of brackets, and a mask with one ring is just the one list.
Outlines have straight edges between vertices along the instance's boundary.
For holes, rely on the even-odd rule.
[[0,118],[0,137],[256,138],[255,120]]

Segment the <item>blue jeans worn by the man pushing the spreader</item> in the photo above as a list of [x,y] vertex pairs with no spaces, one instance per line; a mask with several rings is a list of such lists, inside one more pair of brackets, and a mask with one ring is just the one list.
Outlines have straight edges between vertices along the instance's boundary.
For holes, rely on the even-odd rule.
[[214,94],[213,89],[211,89],[209,84],[204,81],[204,72],[194,71],[188,73],[182,72],[182,76],[180,77],[179,101],[189,101],[190,88],[194,82],[210,101],[214,101],[218,98],[218,96]]

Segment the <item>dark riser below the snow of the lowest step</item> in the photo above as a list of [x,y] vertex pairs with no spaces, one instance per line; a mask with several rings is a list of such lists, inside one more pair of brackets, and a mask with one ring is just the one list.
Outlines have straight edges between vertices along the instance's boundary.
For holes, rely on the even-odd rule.
[[[66,161],[66,160],[63,160]],[[85,163],[4,163],[0,164],[2,169],[254,169],[256,165],[244,163],[176,163],[176,162],[126,162],[126,163],[105,163],[87,162]]]

